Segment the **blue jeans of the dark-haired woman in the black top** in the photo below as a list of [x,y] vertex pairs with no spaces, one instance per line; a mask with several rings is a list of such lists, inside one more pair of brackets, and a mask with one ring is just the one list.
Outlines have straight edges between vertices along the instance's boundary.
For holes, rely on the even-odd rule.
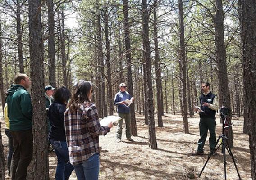
[[68,180],[74,167],[69,162],[69,152],[68,152],[67,142],[50,139],[50,144],[54,148],[56,156],[58,158],[55,179]]

